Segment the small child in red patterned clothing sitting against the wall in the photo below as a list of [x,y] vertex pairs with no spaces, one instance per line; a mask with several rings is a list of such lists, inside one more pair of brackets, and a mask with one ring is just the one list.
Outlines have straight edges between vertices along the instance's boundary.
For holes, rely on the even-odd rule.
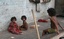
[[16,17],[11,18],[11,22],[9,24],[8,31],[11,33],[14,33],[14,34],[22,34],[19,26],[15,22],[16,20],[17,20]]

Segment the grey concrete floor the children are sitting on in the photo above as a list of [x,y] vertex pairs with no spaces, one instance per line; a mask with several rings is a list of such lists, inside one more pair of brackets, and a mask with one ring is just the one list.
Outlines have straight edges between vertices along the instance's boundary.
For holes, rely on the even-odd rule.
[[[60,24],[64,27],[64,18],[58,18]],[[8,31],[2,31],[0,32],[0,39],[12,39],[11,37],[14,37],[13,39],[37,39],[37,34],[35,29],[30,29],[30,25],[33,25],[34,23],[29,24],[29,29],[27,31],[23,31],[22,35],[15,35],[11,34]],[[40,38],[41,39],[50,39],[53,36],[56,35],[56,33],[53,34],[47,34],[42,37],[42,31],[44,29],[50,28],[50,22],[48,23],[38,23],[40,25],[39,32],[40,32]],[[60,28],[59,28],[60,29]],[[61,30],[61,29],[60,29]]]

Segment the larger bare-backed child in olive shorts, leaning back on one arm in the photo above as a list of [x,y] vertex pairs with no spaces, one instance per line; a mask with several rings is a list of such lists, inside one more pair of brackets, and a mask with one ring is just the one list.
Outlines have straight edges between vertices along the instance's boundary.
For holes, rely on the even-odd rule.
[[54,33],[54,32],[57,32],[57,34],[59,34],[58,26],[60,26],[60,24],[59,24],[59,22],[56,19],[56,11],[55,11],[55,9],[54,8],[49,8],[47,10],[47,12],[48,12],[48,14],[50,16],[51,28],[43,30],[42,36],[47,34],[47,33]]

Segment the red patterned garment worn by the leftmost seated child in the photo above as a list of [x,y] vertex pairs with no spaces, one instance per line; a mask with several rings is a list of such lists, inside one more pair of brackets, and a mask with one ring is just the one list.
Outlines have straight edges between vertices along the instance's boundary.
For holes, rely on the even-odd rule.
[[8,31],[11,32],[11,33],[14,33],[14,34],[20,34],[21,33],[19,26],[15,22],[11,22],[9,24]]

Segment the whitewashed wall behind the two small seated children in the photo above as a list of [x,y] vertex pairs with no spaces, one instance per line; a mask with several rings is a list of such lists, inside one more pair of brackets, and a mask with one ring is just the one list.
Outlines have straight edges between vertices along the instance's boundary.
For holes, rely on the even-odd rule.
[[54,7],[54,0],[47,4],[40,4],[40,13],[35,11],[35,5],[28,0],[0,0],[0,31],[8,28],[10,18],[17,17],[18,25],[22,24],[21,16],[27,16],[27,22],[33,22],[31,9],[34,10],[35,15],[38,18],[47,16],[46,10],[50,7]]

